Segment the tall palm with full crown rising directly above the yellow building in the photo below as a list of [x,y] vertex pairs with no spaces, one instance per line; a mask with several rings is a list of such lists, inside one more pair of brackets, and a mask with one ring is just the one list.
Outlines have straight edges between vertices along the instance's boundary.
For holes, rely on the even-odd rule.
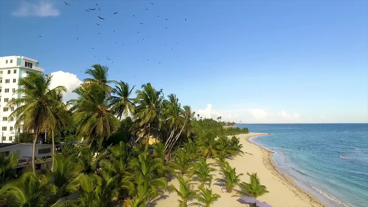
[[136,92],[137,98],[135,102],[139,105],[136,108],[134,118],[138,119],[139,126],[142,127],[144,135],[147,134],[146,140],[148,143],[152,130],[155,130],[154,133],[156,136],[158,130],[161,128],[160,114],[163,97],[162,90],[156,91],[151,83],[143,84],[141,88],[142,90],[137,90]]

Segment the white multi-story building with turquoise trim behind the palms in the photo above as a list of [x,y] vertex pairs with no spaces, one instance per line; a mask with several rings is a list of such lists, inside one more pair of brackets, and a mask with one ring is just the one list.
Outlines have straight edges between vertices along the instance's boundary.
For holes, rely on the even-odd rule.
[[0,143],[11,143],[15,138],[15,133],[20,129],[15,129],[16,120],[9,120],[9,115],[14,108],[7,107],[11,99],[21,98],[22,94],[14,94],[14,91],[20,88],[18,80],[24,78],[32,72],[45,72],[39,66],[37,60],[24,56],[6,56],[0,57]]

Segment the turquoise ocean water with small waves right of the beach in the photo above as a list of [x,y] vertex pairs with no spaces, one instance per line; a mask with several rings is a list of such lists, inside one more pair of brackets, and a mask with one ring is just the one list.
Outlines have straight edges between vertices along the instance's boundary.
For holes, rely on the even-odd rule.
[[368,206],[368,124],[238,124],[272,133],[251,141],[329,206]]

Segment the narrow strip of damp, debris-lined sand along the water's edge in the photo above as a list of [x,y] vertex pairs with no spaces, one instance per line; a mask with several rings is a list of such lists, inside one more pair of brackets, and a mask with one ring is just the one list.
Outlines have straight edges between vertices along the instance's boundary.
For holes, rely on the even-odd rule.
[[262,145],[258,145],[256,143],[253,143],[252,141],[250,141],[251,138],[256,138],[256,137],[265,136],[265,135],[269,135],[269,134],[264,133],[262,135],[248,137],[248,138],[246,138],[246,140],[247,140],[248,143],[256,145],[257,147],[261,148],[262,155],[263,155],[262,156],[263,164],[265,164],[266,168],[269,169],[269,171],[271,171],[271,173],[273,175],[277,176],[279,179],[282,179],[282,180],[286,181],[289,185],[294,187],[297,192],[300,192],[300,193],[302,193],[302,195],[307,196],[311,202],[313,202],[313,203],[315,203],[319,206],[322,206],[322,207],[329,206],[328,204],[323,203],[320,199],[318,199],[313,194],[309,193],[307,190],[305,190],[302,187],[298,186],[296,184],[296,182],[294,181],[293,177],[284,174],[280,169],[278,169],[277,166],[276,166],[275,161],[272,160],[274,152],[270,152],[270,151],[268,151],[268,149],[264,148]]

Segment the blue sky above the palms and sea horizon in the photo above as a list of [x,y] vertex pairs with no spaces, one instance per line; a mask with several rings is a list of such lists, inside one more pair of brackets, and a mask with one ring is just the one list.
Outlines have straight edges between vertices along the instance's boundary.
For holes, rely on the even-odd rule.
[[107,65],[208,118],[368,122],[368,1],[66,2],[0,1],[0,56],[39,60],[70,89]]

